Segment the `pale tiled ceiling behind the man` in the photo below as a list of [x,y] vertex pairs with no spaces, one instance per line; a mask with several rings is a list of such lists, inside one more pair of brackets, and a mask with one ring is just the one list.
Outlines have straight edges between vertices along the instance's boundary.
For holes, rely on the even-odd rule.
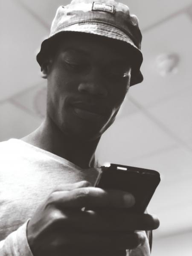
[[[149,206],[161,221],[158,238],[192,230],[192,0],[122,2],[140,20],[145,79],[131,87],[96,154],[100,163],[161,173]],[[35,55],[56,8],[67,3],[0,0],[0,141],[29,134],[43,119],[46,80]],[[179,56],[177,73],[160,76],[156,59],[164,53]]]

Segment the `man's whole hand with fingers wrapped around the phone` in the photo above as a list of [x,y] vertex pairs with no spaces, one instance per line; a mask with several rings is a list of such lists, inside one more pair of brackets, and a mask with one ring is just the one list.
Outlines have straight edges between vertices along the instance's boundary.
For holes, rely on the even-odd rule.
[[[34,256],[121,256],[143,244],[135,230],[153,230],[159,221],[131,214],[128,192],[91,187],[87,181],[52,192],[31,218],[27,239]],[[82,208],[94,209],[83,211]]]

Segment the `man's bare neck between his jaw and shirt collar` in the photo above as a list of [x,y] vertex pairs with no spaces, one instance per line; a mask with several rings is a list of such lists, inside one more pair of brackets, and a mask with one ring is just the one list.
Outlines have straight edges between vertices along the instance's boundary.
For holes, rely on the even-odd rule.
[[40,127],[21,140],[63,157],[83,169],[95,166],[95,151],[99,139],[87,142],[72,138],[63,134],[46,118]]

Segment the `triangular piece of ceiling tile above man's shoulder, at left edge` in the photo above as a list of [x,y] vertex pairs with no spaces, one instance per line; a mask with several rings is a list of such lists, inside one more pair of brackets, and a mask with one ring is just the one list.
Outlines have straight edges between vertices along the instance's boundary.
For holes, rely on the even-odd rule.
[[10,102],[0,104],[0,141],[21,138],[34,131],[41,120]]

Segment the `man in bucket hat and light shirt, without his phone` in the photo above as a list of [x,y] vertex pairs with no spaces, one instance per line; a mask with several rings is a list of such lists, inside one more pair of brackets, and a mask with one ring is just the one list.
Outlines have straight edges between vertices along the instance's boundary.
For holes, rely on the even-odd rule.
[[158,219],[126,212],[130,193],[94,187],[101,135],[143,80],[140,43],[137,17],[121,3],[58,8],[37,55],[47,116],[32,134],[0,143],[1,256],[150,254],[138,230],[156,229]]

